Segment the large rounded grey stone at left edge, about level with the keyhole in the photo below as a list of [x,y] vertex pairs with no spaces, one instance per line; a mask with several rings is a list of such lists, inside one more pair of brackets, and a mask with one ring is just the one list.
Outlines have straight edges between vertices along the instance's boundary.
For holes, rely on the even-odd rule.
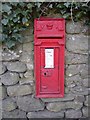
[[14,85],[19,81],[19,75],[17,73],[6,72],[1,76],[1,82],[4,85]]

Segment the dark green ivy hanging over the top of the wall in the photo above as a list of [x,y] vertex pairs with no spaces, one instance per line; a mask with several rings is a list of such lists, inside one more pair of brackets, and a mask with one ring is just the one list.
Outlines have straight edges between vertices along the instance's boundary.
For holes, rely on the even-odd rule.
[[34,18],[47,16],[50,11],[59,13],[61,17],[73,22],[87,18],[86,24],[90,25],[90,3],[64,2],[64,3],[2,3],[2,39],[0,42],[12,49],[18,43],[23,43],[22,31],[27,30]]

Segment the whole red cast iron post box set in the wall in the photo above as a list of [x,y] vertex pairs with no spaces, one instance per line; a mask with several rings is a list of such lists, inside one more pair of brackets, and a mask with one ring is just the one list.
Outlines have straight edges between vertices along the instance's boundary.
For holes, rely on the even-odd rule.
[[36,97],[64,96],[65,20],[40,18],[34,21]]

